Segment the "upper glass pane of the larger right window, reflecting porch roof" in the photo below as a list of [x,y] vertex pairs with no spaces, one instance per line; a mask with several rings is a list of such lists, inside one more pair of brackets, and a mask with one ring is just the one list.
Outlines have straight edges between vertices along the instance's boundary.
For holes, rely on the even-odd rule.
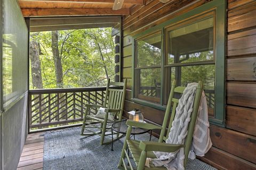
[[213,18],[167,33],[167,64],[209,61],[213,55]]

